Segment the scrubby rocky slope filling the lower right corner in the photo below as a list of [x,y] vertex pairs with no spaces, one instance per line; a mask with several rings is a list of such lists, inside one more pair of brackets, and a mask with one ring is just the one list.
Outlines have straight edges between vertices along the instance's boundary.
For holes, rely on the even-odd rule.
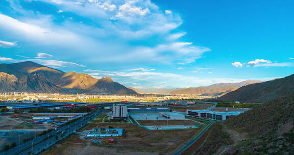
[[224,123],[248,138],[234,154],[294,154],[294,94],[232,116]]

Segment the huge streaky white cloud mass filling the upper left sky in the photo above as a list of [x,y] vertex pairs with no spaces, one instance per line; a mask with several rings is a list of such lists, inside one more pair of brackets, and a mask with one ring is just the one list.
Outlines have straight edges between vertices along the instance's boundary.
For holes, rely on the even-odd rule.
[[[33,44],[37,51],[47,49],[55,57],[85,60],[90,65],[97,62],[136,64],[134,66],[145,63],[187,64],[210,50],[179,40],[186,34],[178,30],[182,24],[181,17],[165,14],[149,0],[40,1],[85,20],[81,23],[76,16],[70,20],[70,16],[64,14],[64,21],[56,23],[56,14],[34,13],[14,4],[17,5],[14,8],[21,10],[18,11],[21,16],[10,17],[0,13],[3,35],[11,36],[23,45]],[[111,20],[119,14],[121,17]],[[22,48],[31,50],[30,47]],[[127,59],[132,61],[126,62]]]

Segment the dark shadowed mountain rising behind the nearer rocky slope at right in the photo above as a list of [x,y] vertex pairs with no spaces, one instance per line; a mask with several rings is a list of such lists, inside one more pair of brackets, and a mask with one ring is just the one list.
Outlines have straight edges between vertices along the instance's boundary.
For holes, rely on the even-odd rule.
[[266,102],[292,93],[294,93],[294,74],[273,81],[244,86],[219,99],[241,102]]

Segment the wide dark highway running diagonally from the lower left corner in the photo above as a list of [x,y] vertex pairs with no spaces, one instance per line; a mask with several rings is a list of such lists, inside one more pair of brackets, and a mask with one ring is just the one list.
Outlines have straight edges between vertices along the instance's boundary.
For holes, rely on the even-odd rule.
[[0,155],[14,155],[14,154],[37,154],[42,149],[46,149],[47,147],[50,147],[51,145],[56,143],[56,135],[58,137],[58,140],[61,140],[64,137],[67,137],[68,135],[74,133],[74,131],[79,130],[79,128],[85,126],[90,120],[95,118],[97,115],[101,115],[106,110],[101,111],[95,111],[89,115],[83,116],[79,119],[77,119],[74,122],[71,122],[65,126],[60,127],[56,131],[52,131],[48,134],[42,135],[37,137],[36,139],[33,139],[29,142],[23,143],[21,145],[16,146],[13,149],[9,149],[8,151],[0,153]]

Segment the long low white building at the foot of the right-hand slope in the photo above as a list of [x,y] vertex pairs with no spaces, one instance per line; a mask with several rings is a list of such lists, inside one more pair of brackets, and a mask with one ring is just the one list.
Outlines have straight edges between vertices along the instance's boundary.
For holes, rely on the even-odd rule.
[[226,120],[232,115],[239,115],[244,111],[235,111],[235,112],[218,112],[210,110],[188,110],[187,114],[195,117],[208,118],[213,120]]

